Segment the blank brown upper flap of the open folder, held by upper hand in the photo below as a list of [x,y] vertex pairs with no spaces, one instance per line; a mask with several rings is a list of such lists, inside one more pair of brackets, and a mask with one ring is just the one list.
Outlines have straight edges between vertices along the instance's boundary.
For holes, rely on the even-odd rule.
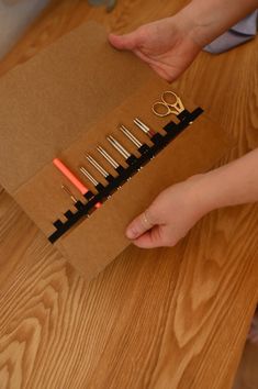
[[[0,181],[12,194],[152,71],[86,23],[0,80]],[[10,153],[10,151],[12,151]]]

